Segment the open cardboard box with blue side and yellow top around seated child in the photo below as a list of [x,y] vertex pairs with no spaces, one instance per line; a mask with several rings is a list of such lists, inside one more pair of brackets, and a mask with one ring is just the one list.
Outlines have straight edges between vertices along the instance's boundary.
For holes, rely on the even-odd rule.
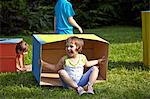
[[100,66],[100,73],[97,82],[106,80],[108,65],[108,46],[109,43],[94,34],[74,34],[74,35],[57,35],[57,34],[34,34],[33,35],[33,58],[32,72],[39,85],[61,86],[59,75],[43,68],[40,60],[56,64],[59,59],[65,55],[65,40],[69,36],[77,36],[84,40],[82,53],[88,60],[106,57],[106,61]]

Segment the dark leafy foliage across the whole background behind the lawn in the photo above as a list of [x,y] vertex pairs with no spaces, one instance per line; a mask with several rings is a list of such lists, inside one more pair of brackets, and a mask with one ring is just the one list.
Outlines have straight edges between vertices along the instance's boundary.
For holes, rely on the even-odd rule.
[[[53,29],[56,0],[0,1],[1,35],[32,34]],[[141,25],[141,11],[149,0],[71,0],[75,19],[85,28],[108,25]],[[15,34],[14,34],[15,33]]]

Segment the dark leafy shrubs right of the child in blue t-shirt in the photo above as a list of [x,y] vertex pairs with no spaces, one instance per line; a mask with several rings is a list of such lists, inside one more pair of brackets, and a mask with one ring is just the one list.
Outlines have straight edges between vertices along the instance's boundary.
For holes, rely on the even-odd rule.
[[74,1],[76,18],[85,28],[104,25],[141,25],[141,11],[149,10],[148,0]]

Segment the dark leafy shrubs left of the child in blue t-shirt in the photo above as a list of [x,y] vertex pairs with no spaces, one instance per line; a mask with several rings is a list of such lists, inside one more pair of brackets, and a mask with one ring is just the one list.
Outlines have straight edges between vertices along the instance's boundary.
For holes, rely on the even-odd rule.
[[[52,28],[53,7],[41,6],[43,0],[1,1],[1,33],[3,35],[30,34]],[[48,14],[49,12],[49,14]],[[31,31],[31,32],[29,32]]]

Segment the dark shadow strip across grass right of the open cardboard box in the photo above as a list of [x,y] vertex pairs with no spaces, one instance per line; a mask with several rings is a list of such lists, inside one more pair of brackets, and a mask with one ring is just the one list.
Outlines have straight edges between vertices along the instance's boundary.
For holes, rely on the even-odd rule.
[[108,65],[108,69],[111,70],[113,68],[125,68],[128,70],[134,70],[134,69],[138,69],[138,70],[143,70],[143,71],[149,71],[150,68],[148,66],[145,66],[143,64],[143,62],[122,62],[122,61],[118,61],[118,62],[112,62],[109,61],[109,65]]

